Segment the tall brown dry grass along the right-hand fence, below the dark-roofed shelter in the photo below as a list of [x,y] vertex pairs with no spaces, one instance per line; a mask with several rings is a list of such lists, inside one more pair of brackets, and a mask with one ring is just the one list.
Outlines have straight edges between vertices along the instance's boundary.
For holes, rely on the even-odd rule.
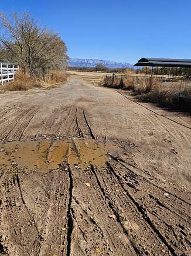
[[160,103],[165,107],[176,107],[179,104],[183,108],[190,108],[191,81],[182,82],[181,94],[186,94],[186,98],[179,99],[180,82],[180,80],[169,81],[168,79],[162,80],[157,77],[127,75],[122,76],[122,78],[118,76],[114,81],[112,81],[111,76],[104,84],[111,88],[137,91],[139,93],[138,98],[142,101]]

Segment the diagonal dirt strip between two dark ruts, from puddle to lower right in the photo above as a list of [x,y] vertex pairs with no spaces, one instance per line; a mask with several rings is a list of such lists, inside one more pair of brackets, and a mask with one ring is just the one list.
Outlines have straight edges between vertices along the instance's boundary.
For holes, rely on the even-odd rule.
[[[96,168],[95,172],[98,182],[101,184],[101,190],[104,191],[104,194],[108,198],[108,204],[110,204],[112,211],[114,211],[117,220],[120,222],[124,234],[134,246],[137,255],[161,254],[161,241],[158,238],[158,234],[145,222],[142,213],[129,200],[127,192],[121,189],[120,182],[111,174],[110,169],[103,170]],[[142,241],[143,237],[144,242]],[[153,247],[152,245],[155,246]],[[168,252],[168,247],[164,246],[163,250],[163,252]]]

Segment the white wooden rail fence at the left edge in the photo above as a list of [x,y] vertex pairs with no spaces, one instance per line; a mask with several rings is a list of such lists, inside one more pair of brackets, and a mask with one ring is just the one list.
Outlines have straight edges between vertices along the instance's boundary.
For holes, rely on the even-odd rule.
[[3,85],[4,82],[11,81],[15,78],[15,73],[18,71],[19,65],[8,63],[8,62],[0,62],[0,84]]

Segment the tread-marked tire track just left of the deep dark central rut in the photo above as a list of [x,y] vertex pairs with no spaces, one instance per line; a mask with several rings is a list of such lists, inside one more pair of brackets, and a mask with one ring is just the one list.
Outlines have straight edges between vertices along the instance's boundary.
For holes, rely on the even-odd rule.
[[[69,204],[69,178],[64,165],[50,172],[46,216],[41,225],[43,237],[39,255],[67,254],[67,205]],[[46,179],[46,177],[45,177]],[[66,230],[66,231],[65,231]]]

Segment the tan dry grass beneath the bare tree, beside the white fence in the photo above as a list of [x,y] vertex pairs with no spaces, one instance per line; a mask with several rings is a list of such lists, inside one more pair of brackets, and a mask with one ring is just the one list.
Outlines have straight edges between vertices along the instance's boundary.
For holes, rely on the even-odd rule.
[[30,78],[29,75],[23,74],[21,71],[17,72],[15,79],[10,84],[5,84],[2,91],[27,91],[34,87],[37,88],[52,88],[53,85],[63,84],[67,80],[66,73],[61,71],[52,71],[52,74],[45,77],[45,81],[38,78]]

